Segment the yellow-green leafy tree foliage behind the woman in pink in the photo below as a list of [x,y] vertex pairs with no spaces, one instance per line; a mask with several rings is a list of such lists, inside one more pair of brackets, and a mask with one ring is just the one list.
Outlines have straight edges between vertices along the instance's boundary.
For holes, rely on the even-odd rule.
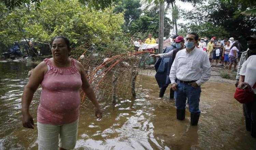
[[[3,4],[1,3],[3,7]],[[40,8],[16,7],[1,16],[0,41],[13,43],[22,39],[47,43],[57,35],[69,38],[73,47],[87,43],[118,42],[122,37],[123,14],[113,8],[97,11],[77,0],[44,0]]]

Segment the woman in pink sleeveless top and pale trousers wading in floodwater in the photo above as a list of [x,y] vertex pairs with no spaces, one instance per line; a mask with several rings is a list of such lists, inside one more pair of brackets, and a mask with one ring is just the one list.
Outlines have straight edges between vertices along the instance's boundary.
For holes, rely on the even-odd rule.
[[[69,58],[70,50],[69,40],[66,37],[55,37],[52,42],[53,58],[45,59],[35,67],[22,95],[22,123],[24,127],[33,129],[34,123],[29,114],[29,105],[34,92],[41,84],[42,92],[37,115],[39,149],[56,149],[58,143],[60,149],[75,147],[81,100],[80,88],[95,105],[96,117],[102,117],[84,67],[77,60]],[[65,131],[66,129],[74,130],[70,132]],[[69,135],[65,135],[66,133]],[[70,133],[74,134],[70,135]]]

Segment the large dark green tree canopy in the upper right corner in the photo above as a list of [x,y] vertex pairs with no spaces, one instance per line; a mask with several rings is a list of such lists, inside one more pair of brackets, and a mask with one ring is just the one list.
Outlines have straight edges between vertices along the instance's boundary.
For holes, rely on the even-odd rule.
[[243,44],[245,50],[245,37],[256,34],[256,18],[237,13],[239,9],[240,6],[232,1],[209,0],[196,5],[194,10],[182,12],[189,24],[181,27],[188,31],[195,30],[201,36],[234,37]]

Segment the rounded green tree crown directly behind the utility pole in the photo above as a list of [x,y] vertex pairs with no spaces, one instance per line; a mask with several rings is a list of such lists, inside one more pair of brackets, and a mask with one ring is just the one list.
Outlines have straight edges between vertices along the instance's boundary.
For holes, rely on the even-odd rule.
[[[163,35],[169,37],[171,26],[171,20],[168,17],[164,18],[164,29]],[[153,31],[153,35],[158,36],[159,32],[159,13],[152,14],[149,12],[144,12],[144,15],[140,16],[139,19],[135,20],[131,24],[131,33],[135,33],[138,30],[144,30],[146,33],[148,30]]]

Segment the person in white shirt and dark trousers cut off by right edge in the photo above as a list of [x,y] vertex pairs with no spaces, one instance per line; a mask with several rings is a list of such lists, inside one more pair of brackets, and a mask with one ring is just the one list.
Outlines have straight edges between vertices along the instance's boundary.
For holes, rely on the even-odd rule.
[[[239,74],[239,89],[242,89],[244,85],[249,88],[253,87],[256,82],[256,55],[248,57],[242,64]],[[247,120],[246,122],[246,130],[251,131],[252,137],[256,137],[256,88],[253,89],[253,92],[253,101],[245,104],[245,115],[246,118],[250,119],[250,121]]]

